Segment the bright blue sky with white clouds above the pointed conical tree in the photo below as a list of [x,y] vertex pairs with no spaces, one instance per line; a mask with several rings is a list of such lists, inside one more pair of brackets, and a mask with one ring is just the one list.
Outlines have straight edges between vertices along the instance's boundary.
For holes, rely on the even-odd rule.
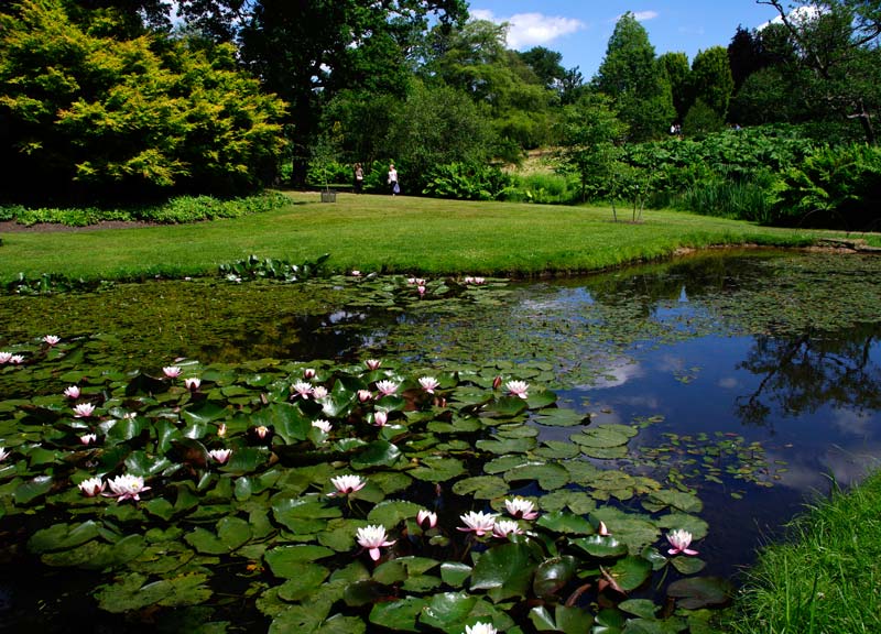
[[728,46],[738,24],[753,29],[776,17],[754,0],[470,0],[472,17],[511,24],[508,45],[545,46],[563,54],[563,66],[579,66],[585,80],[597,72],[614,23],[632,11],[659,55]]

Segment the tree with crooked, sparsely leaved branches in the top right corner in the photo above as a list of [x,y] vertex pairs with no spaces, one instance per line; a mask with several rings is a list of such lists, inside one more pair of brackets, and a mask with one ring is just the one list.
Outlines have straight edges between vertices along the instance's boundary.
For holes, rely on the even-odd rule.
[[875,142],[873,118],[881,109],[881,4],[867,0],[824,0],[776,9],[795,51],[787,77],[806,98],[813,117],[845,117]]

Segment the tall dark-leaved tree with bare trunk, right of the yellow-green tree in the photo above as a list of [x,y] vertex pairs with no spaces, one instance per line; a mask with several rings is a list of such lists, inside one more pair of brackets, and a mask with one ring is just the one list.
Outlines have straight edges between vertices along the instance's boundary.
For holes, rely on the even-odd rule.
[[241,59],[290,103],[293,178],[303,182],[322,111],[342,90],[403,96],[415,54],[436,18],[467,17],[465,0],[182,0],[192,24],[237,37]]

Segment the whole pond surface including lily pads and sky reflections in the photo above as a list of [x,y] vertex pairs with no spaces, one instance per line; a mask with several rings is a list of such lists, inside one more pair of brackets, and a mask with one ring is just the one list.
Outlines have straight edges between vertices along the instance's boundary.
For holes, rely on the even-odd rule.
[[[9,545],[0,579],[9,595],[0,605],[0,619],[13,628],[26,624],[51,631],[64,631],[64,619],[72,614],[97,614],[107,620],[107,631],[113,631],[142,626],[164,613],[175,616],[159,619],[168,631],[175,631],[170,622],[193,619],[208,623],[205,631],[254,632],[265,631],[269,622],[275,631],[296,623],[305,631],[323,632],[363,631],[365,623],[368,630],[461,632],[480,620],[500,630],[507,625],[511,632],[545,626],[585,631],[589,625],[617,631],[628,619],[662,616],[690,625],[694,616],[646,611],[640,601],[662,605],[655,589],[663,592],[671,581],[675,586],[692,575],[737,582],[755,549],[779,536],[806,500],[828,491],[833,481],[849,485],[877,468],[879,273],[881,259],[872,256],[719,251],[583,278],[479,284],[428,280],[424,292],[413,281],[365,276],[295,285],[151,282],[87,294],[6,298],[0,350],[22,354],[25,363],[6,363],[0,370],[0,437],[18,451],[15,466],[0,471],[6,500],[1,521]],[[59,335],[62,343],[41,341],[47,334]],[[361,362],[369,358],[381,359],[381,369],[366,370]],[[211,391],[189,394],[175,386],[162,375],[161,369],[170,365],[183,368],[184,374],[197,372]],[[307,367],[317,369],[318,379],[326,375],[324,383],[333,392],[328,398],[335,401],[318,409],[296,402],[296,416],[322,414],[340,429],[344,424],[357,427],[352,420],[363,417],[377,427],[374,416],[382,411],[396,419],[398,433],[390,426],[380,427],[378,435],[361,435],[368,449],[351,459],[347,452],[354,445],[338,439],[327,459],[333,469],[303,466],[297,452],[319,449],[327,438],[285,418],[286,408],[281,418],[276,411],[268,412],[275,404],[281,407],[273,401],[276,383],[285,384],[279,401],[289,406],[296,394],[287,397],[286,385]],[[443,401],[426,401],[418,390],[415,379],[429,374],[438,376]],[[515,390],[500,395],[504,387],[493,385],[496,376],[505,385],[529,382],[530,397],[518,398]],[[361,412],[357,390],[376,390],[385,379],[398,381],[409,395],[387,395],[370,412]],[[83,384],[93,395],[100,424],[89,427],[64,413],[61,394],[70,383]],[[262,405],[254,405],[250,390],[261,392]],[[452,415],[442,412],[447,400],[455,403],[449,405]],[[116,423],[124,419],[123,411],[132,411],[135,423],[131,423],[129,427],[137,428],[120,431],[123,425]],[[221,412],[236,412],[229,419],[230,446],[244,462],[209,473],[208,463],[193,459],[193,453],[219,446],[213,430],[216,420],[226,420]],[[475,416],[480,424],[472,422]],[[280,458],[280,466],[291,472],[308,473],[306,484],[257,452],[267,444],[248,435],[263,419],[273,423],[268,426],[276,433],[276,444],[269,442],[276,455],[273,460]],[[55,433],[36,431],[37,425],[52,426]],[[21,429],[26,437],[14,438]],[[63,476],[45,467],[62,459],[61,448],[72,433],[89,430],[106,434],[104,449],[78,457]],[[40,434],[42,449],[35,448]],[[160,447],[170,456],[186,450],[189,458],[150,462]],[[400,448],[412,464],[392,457],[389,447]],[[144,495],[149,502],[96,506],[95,500],[84,501],[77,492],[59,491],[63,478],[81,481],[88,464],[117,473],[123,463],[129,473],[154,478],[153,491]],[[416,463],[420,467],[410,470]],[[322,496],[307,498],[320,478],[339,476],[345,468],[373,478],[381,491],[362,500],[352,495],[360,502],[352,506],[350,500],[348,510],[329,506]],[[186,484],[185,476],[196,484]],[[396,482],[403,476],[407,479]],[[160,483],[176,493],[160,498]],[[529,592],[511,570],[496,570],[501,580],[493,586],[488,569],[498,564],[493,553],[499,546],[490,548],[476,538],[463,553],[453,528],[466,511],[503,513],[503,499],[512,494],[534,501],[542,513],[536,533],[526,531],[534,542],[544,540],[542,557],[564,561],[564,568],[573,566],[559,586],[548,581],[556,579],[553,575],[542,578],[559,597],[539,592],[540,600],[532,597],[530,605],[540,606],[531,610],[516,602]],[[182,510],[185,496],[193,498],[193,504],[200,500],[200,509],[211,512],[187,515],[189,510]],[[316,533],[294,506],[280,502],[289,498],[306,500],[315,517],[337,523],[336,532]],[[452,513],[448,531],[435,534],[439,527],[414,525],[405,517],[417,507],[414,502],[438,515]],[[261,504],[272,511],[261,512]],[[370,510],[369,504],[377,506]],[[383,504],[385,512],[377,511]],[[227,515],[230,505],[235,512]],[[399,561],[416,557],[426,561],[426,570],[407,564],[405,572],[389,572],[382,566],[394,559],[387,561],[384,554],[372,577],[369,566],[352,570],[340,564],[357,553],[355,531],[365,522],[356,522],[356,511],[367,521],[383,520],[394,531],[398,546],[392,548],[410,543],[406,551],[396,550]],[[96,518],[104,525],[95,528],[95,536],[72,537]],[[241,525],[242,518],[250,528]],[[355,523],[345,524],[350,518]],[[577,518],[589,520],[589,525],[577,524]],[[135,554],[118,554],[119,544],[134,537],[120,539],[127,526],[170,532],[160,521],[180,522],[192,531],[185,539],[148,531],[131,546]],[[600,521],[627,548],[612,548],[612,537],[599,529]],[[226,533],[211,532],[221,524]],[[699,558],[666,557],[666,546],[657,545],[663,534],[683,526],[690,528]],[[568,549],[559,546],[563,542]],[[93,545],[89,553],[105,557],[99,557],[105,565],[84,565],[85,553],[77,554],[84,544]],[[316,559],[333,553],[345,557],[320,570],[285,559],[294,545],[313,544],[329,548],[327,554],[312,551]],[[527,560],[523,544],[512,538],[504,557]],[[116,550],[109,551],[110,546]],[[455,550],[458,564],[442,555],[442,548]],[[186,558],[189,567],[177,570],[176,577],[164,575],[160,551]],[[150,566],[143,562],[149,553]],[[572,564],[573,553],[594,559]],[[370,564],[369,557],[361,559]],[[530,568],[533,583],[539,578],[535,570],[545,570],[551,559]],[[24,565],[31,570],[26,582],[20,575]],[[440,565],[439,576],[427,573],[434,565]],[[206,572],[218,567],[227,567],[232,580]],[[127,570],[129,579],[138,577],[131,588],[126,586]],[[192,587],[178,587],[175,579],[184,572],[193,579],[205,577]],[[298,575],[315,576],[314,588],[291,590]],[[646,582],[649,576],[652,583]],[[61,583],[62,577],[74,586]],[[282,599],[273,578],[286,580]],[[596,583],[587,591],[577,578]],[[47,580],[57,587],[51,595]],[[134,600],[151,581],[152,587],[167,583],[170,593],[195,592],[195,598],[180,603]],[[344,597],[333,586],[337,581],[363,586],[365,597]],[[602,589],[613,581],[621,587]],[[102,586],[93,592],[98,583]],[[304,598],[318,588],[334,597],[339,591],[339,597],[326,610],[318,609],[314,623],[303,625],[305,616],[296,610],[305,610]],[[474,597],[465,597],[464,588],[485,591],[489,601],[481,599],[477,608],[469,603],[466,610],[463,602]],[[722,602],[695,601],[695,594],[713,594],[715,586],[674,590],[687,594],[682,599],[673,592],[681,605]],[[95,599],[84,594],[97,594],[101,611],[96,612]],[[115,601],[129,608],[116,610]],[[373,603],[379,608],[365,608]],[[383,610],[384,604],[391,608]],[[390,616],[392,609],[399,616]],[[35,616],[34,610],[44,615]],[[403,613],[410,616],[400,617]]]

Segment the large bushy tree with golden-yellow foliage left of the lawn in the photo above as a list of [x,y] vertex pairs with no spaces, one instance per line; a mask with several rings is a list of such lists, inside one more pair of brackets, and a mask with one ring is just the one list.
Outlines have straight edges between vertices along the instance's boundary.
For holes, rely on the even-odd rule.
[[235,51],[109,37],[113,15],[77,24],[48,0],[0,15],[4,192],[222,193],[269,176],[284,103],[237,69]]

